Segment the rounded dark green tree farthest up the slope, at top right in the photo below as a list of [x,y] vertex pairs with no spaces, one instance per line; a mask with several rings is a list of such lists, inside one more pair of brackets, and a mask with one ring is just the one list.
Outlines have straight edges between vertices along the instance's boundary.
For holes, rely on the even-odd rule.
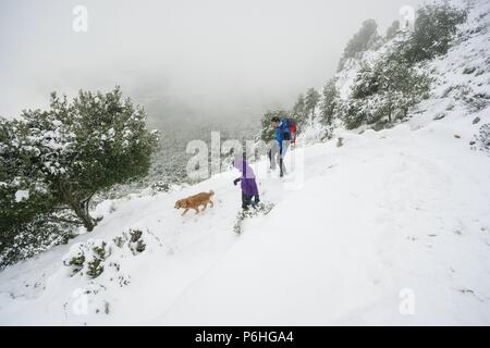
[[445,54],[456,26],[466,17],[466,11],[445,2],[421,7],[417,10],[414,32],[408,41],[400,46],[402,54],[411,64]]

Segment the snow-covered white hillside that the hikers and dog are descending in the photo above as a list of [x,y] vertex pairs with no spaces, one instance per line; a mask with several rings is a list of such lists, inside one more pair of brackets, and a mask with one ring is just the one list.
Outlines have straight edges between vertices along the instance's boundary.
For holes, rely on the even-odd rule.
[[[233,171],[105,201],[93,233],[0,272],[0,324],[490,324],[490,158],[470,149],[490,122],[489,22],[476,2],[407,122],[294,149],[299,187],[298,167],[255,163],[274,207],[241,235]],[[209,189],[201,214],[173,208]]]

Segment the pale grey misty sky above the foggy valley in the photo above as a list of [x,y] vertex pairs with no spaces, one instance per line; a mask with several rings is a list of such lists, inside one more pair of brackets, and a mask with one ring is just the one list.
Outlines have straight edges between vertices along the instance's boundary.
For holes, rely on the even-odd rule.
[[[49,92],[123,92],[150,117],[250,116],[332,76],[368,17],[380,32],[419,0],[0,1],[0,115]],[[72,29],[76,4],[88,32]]]

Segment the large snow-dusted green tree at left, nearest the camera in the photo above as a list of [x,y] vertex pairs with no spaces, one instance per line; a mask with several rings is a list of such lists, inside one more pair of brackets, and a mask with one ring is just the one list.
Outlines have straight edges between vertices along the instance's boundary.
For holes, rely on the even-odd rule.
[[72,102],[52,94],[47,111],[0,119],[0,256],[11,253],[20,233],[37,233],[33,225],[58,221],[91,231],[93,196],[146,175],[157,141],[145,110],[119,87],[79,91]]

